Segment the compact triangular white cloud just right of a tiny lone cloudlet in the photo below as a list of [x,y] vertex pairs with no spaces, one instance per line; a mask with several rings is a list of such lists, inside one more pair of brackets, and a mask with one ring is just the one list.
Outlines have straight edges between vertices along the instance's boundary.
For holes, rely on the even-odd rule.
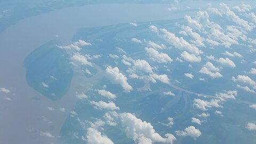
[[199,73],[206,74],[212,78],[222,77],[219,73],[220,69],[215,67],[211,62],[206,62],[206,64],[199,70]]

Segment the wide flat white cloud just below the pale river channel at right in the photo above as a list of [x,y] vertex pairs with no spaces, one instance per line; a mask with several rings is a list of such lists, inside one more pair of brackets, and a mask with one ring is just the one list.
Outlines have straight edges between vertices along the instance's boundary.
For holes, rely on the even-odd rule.
[[193,101],[193,106],[197,107],[198,109],[201,109],[203,111],[206,111],[208,110],[208,108],[211,108],[211,107],[222,107],[220,105],[220,100],[219,99],[212,99],[211,101],[204,101],[204,100],[201,100],[201,99],[194,99]]

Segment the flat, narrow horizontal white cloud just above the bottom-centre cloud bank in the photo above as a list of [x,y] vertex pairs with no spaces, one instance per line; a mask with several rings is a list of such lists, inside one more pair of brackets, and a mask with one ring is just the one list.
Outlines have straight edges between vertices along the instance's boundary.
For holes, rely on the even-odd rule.
[[109,101],[108,103],[105,101],[91,101],[91,105],[94,105],[94,108],[96,109],[107,109],[107,110],[119,110],[120,108],[116,106],[116,104],[113,101]]

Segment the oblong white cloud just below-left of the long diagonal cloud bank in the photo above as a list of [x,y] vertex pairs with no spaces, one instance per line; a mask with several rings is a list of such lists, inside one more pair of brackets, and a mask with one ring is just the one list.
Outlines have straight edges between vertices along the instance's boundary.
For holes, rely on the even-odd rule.
[[145,47],[145,50],[147,51],[152,60],[157,61],[159,63],[169,63],[173,61],[168,54],[162,52],[159,53],[157,50],[151,47]]

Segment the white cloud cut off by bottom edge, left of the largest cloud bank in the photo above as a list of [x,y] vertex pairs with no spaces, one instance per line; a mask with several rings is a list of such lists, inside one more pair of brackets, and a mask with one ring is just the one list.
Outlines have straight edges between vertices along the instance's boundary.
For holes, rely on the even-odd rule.
[[102,135],[101,132],[92,127],[87,129],[86,138],[89,144],[114,144],[106,135]]

